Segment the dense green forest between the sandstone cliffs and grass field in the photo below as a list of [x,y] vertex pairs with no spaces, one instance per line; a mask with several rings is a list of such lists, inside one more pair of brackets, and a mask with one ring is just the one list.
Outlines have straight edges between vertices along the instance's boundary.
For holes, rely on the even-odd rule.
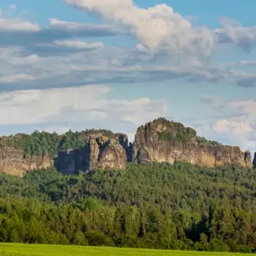
[[189,163],[0,173],[0,243],[255,252],[256,173]]

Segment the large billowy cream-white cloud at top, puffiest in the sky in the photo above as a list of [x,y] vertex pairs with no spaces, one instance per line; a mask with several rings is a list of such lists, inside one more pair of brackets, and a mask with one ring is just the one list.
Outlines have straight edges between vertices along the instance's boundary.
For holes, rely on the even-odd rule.
[[211,31],[193,29],[189,21],[166,4],[144,9],[132,0],[66,0],[66,3],[119,24],[151,50],[209,56],[214,46]]

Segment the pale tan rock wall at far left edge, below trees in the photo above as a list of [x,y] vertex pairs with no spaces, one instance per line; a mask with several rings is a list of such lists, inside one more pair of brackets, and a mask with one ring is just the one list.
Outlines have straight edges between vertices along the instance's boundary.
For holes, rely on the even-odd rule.
[[24,156],[22,150],[0,144],[0,172],[22,177],[26,171],[51,166],[53,161],[48,155]]

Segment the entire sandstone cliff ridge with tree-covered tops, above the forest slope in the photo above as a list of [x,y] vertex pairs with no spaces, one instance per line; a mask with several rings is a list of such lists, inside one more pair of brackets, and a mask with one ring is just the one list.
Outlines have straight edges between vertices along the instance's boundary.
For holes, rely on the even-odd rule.
[[[68,131],[64,135],[35,131],[0,138],[0,172],[23,176],[27,170],[57,168],[77,174],[97,169],[126,169],[127,163],[193,163],[252,168],[252,154],[197,136],[192,128],[163,118],[137,128],[135,141],[109,130]],[[256,160],[255,160],[256,161]],[[255,161],[253,163],[255,163]]]

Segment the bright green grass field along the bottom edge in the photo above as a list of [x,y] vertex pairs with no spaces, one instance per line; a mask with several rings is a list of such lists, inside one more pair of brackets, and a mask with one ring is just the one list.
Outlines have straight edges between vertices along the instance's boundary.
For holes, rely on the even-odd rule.
[[0,256],[225,256],[248,255],[220,252],[178,252],[138,249],[119,249],[109,247],[79,247],[58,245],[30,245],[0,243]]

